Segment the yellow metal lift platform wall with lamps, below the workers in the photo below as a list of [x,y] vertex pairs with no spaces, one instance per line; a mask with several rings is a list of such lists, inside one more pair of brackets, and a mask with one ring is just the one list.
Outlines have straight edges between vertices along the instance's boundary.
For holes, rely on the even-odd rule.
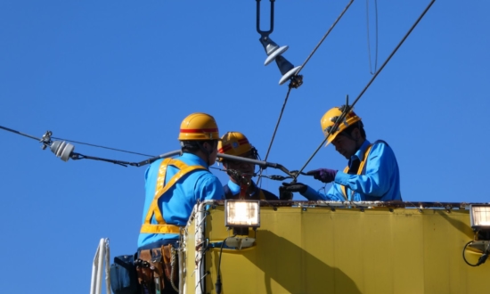
[[[208,200],[194,208],[176,265],[181,293],[461,294],[488,288],[490,263],[475,266],[488,253],[488,206],[269,201],[260,207],[265,201],[256,201],[241,212],[233,202]],[[231,204],[235,208],[226,208]],[[480,216],[473,216],[475,208],[483,208]]]

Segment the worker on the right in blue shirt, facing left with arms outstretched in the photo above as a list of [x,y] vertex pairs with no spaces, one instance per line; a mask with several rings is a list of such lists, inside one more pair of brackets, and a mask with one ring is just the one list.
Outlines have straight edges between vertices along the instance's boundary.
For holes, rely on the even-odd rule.
[[[328,110],[321,120],[326,136],[334,127],[345,106]],[[354,111],[349,111],[327,139],[335,150],[348,159],[343,172],[330,168],[319,168],[307,172],[316,180],[331,183],[326,200],[334,201],[388,201],[402,200],[400,173],[395,153],[388,143],[378,140],[370,143],[366,139],[363,122]],[[287,191],[300,192],[306,198],[318,198],[319,192],[305,184],[284,184]]]

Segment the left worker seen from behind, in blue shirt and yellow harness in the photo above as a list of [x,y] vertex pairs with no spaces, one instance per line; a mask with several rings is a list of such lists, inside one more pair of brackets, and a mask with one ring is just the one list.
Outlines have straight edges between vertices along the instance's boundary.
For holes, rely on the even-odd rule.
[[[206,113],[192,113],[182,121],[178,140],[182,155],[176,159],[159,159],[145,173],[146,196],[138,238],[139,260],[165,257],[164,249],[169,246],[170,249],[172,246],[175,248],[180,230],[187,225],[196,203],[224,199],[220,181],[208,170],[216,161],[219,140],[215,118]],[[173,287],[167,284],[170,276],[167,262],[165,266],[167,279],[161,281],[165,283],[161,293],[174,293]],[[178,268],[174,273],[178,273]],[[176,281],[176,275],[172,280]],[[159,287],[151,282],[145,282],[144,287],[154,292],[152,287]]]

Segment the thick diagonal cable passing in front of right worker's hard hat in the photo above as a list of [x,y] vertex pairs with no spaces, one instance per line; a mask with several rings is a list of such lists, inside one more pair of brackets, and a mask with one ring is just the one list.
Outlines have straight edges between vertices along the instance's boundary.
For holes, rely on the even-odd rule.
[[[301,167],[301,169],[299,169],[299,173],[302,172],[303,169],[305,169],[305,167],[308,165],[308,163],[314,158],[314,156],[316,155],[316,153],[318,151],[320,151],[320,149],[323,147],[323,145],[327,142],[327,139],[329,138],[329,136],[331,135],[331,133],[333,133],[332,131],[335,130],[335,129],[337,129],[337,127],[339,127],[340,122],[343,121],[344,118],[346,118],[347,113],[349,113],[349,111],[354,108],[355,103],[357,103],[359,101],[359,99],[361,99],[361,97],[363,96],[364,92],[366,92],[366,90],[369,88],[369,86],[371,86],[371,84],[374,81],[374,79],[376,77],[378,77],[378,75],[380,74],[381,70],[383,70],[385,68],[385,66],[387,65],[388,61],[390,61],[391,58],[393,57],[393,55],[395,55],[395,53],[398,50],[398,48],[400,48],[400,46],[402,44],[404,44],[404,40],[410,35],[410,33],[412,33],[412,30],[415,29],[415,27],[417,26],[417,24],[421,21],[421,19],[425,15],[425,13],[429,11],[430,7],[432,6],[432,4],[434,4],[435,1],[436,0],[432,0],[429,3],[429,5],[425,8],[425,10],[421,13],[421,15],[419,16],[419,18],[413,23],[412,27],[406,32],[406,34],[404,35],[404,37],[402,38],[402,40],[398,43],[398,45],[396,45],[396,47],[393,50],[393,52],[389,54],[387,60],[383,62],[383,64],[381,65],[380,69],[378,69],[376,71],[376,73],[372,76],[372,78],[368,82],[368,84],[366,86],[364,86],[363,91],[361,91],[361,93],[357,96],[357,98],[355,98],[355,101],[352,104],[350,104],[350,105],[348,104],[348,96],[347,96],[347,103],[346,103],[346,107],[345,107],[344,111],[342,111],[342,114],[339,116],[339,118],[337,118],[334,126],[331,127],[331,131],[327,135],[325,135],[325,138],[323,139],[323,141],[320,144],[320,146],[318,146],[318,148],[314,151],[313,155],[309,159],[306,160],[305,165],[303,167]],[[299,173],[294,176],[294,179],[293,179],[292,183],[296,183],[296,180],[298,179]]]

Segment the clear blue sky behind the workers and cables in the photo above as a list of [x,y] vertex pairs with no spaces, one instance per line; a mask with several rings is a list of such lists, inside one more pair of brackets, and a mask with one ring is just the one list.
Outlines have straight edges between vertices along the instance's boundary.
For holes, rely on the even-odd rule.
[[[290,45],[284,56],[299,65],[347,2],[276,1],[271,37]],[[378,1],[378,66],[428,4]],[[263,29],[268,5],[262,2]],[[4,0],[0,126],[159,155],[179,148],[180,122],[202,111],[216,118],[221,134],[247,135],[264,158],[287,86],[278,86],[274,63],[264,66],[255,9],[253,0]],[[404,200],[490,199],[489,11],[484,0],[437,1],[355,106],[368,139],[384,139],[396,152]],[[322,143],[323,113],[346,94],[354,100],[372,77],[365,1],[352,4],[302,74],[269,156],[291,170]],[[0,140],[1,291],[87,293],[100,238],[110,238],[112,256],[135,251],[145,167],[63,162],[3,130]],[[145,159],[75,145],[86,155]],[[306,170],[345,165],[328,147]],[[213,172],[225,182],[223,172]],[[265,180],[263,187],[277,192],[280,184]]]

